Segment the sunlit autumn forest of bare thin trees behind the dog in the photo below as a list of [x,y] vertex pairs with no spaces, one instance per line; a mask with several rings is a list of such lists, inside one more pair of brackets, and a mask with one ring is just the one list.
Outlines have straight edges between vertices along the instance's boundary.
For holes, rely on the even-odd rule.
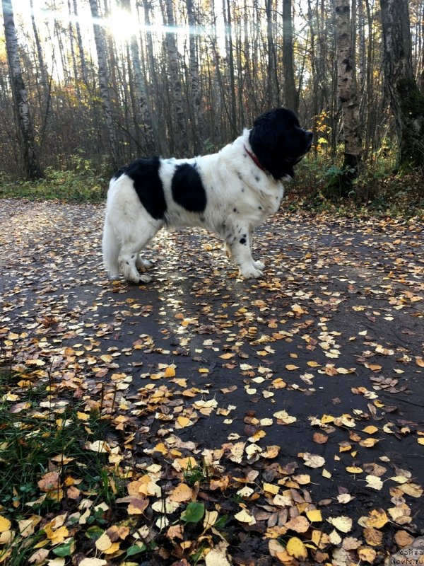
[[314,132],[304,192],[422,200],[423,0],[2,6],[4,183],[78,171],[94,186],[136,156],[218,151],[284,105]]

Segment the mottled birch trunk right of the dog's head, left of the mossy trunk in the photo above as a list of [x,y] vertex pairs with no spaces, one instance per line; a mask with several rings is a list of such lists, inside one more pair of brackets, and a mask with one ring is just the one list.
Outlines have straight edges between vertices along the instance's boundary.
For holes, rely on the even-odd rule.
[[359,105],[354,81],[354,59],[351,45],[350,0],[336,0],[337,91],[341,105],[344,137],[343,169],[346,180],[358,174],[362,144],[359,134]]

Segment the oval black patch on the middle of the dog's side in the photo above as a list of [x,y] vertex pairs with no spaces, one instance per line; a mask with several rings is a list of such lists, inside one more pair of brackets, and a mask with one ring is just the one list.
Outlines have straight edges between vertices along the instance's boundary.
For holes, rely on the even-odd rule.
[[206,191],[196,167],[189,163],[175,168],[171,183],[172,197],[189,212],[204,212]]

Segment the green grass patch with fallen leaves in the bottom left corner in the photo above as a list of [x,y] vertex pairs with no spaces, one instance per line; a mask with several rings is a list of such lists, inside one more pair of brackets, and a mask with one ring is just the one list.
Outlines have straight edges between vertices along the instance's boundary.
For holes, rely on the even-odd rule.
[[[16,521],[42,521],[63,509],[78,512],[72,493],[78,490],[90,498],[86,522],[98,538],[109,522],[105,508],[124,495],[124,480],[109,464],[108,454],[85,447],[107,437],[101,414],[83,412],[75,400],[59,411],[41,408],[40,401],[48,398],[48,381],[33,388],[19,374],[0,367],[0,516],[13,521],[11,540],[0,547],[1,565],[27,565],[37,545],[45,546],[44,527],[16,533]],[[83,420],[81,415],[86,415]],[[57,480],[49,489],[45,482],[52,473]],[[52,551],[59,557],[71,555],[73,543],[69,534]]]

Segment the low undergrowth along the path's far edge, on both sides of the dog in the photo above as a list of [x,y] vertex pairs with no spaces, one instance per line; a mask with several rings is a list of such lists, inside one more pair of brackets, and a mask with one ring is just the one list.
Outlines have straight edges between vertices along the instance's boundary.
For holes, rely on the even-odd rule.
[[[307,156],[296,168],[296,177],[285,185],[285,208],[347,216],[421,216],[424,210],[424,179],[420,173],[396,173],[392,156],[363,164],[346,192],[340,185],[343,168],[324,153]],[[37,181],[11,180],[0,171],[0,198],[105,202],[112,170],[106,162],[91,163],[72,156],[69,171],[45,169]]]

